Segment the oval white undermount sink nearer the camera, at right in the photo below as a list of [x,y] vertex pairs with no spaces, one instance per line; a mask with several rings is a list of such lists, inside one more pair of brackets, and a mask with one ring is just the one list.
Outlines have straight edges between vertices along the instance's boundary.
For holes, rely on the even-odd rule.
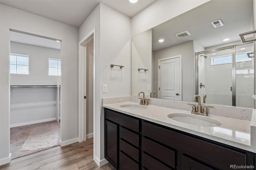
[[204,127],[218,127],[221,125],[221,123],[219,121],[210,119],[208,117],[199,116],[199,115],[173,113],[173,114],[168,115],[168,118],[170,118],[174,121],[179,121],[182,123],[188,123],[191,125],[198,125],[198,126],[204,126]]

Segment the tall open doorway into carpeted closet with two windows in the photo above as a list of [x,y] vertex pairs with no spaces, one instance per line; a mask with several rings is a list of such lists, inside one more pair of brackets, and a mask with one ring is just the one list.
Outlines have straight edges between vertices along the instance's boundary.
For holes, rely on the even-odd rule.
[[60,145],[60,40],[10,31],[12,159]]

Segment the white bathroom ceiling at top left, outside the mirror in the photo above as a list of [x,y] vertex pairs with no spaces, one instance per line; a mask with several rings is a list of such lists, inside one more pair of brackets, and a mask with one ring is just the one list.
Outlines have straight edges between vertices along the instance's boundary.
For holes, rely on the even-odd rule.
[[139,0],[132,4],[128,0],[0,0],[0,3],[79,27],[100,2],[132,17],[155,1]]

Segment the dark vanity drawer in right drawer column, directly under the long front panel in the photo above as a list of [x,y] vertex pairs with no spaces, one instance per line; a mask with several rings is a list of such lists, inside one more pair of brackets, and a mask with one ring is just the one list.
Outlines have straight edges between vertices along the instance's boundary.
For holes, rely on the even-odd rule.
[[175,168],[175,151],[146,138],[142,138],[142,150]]

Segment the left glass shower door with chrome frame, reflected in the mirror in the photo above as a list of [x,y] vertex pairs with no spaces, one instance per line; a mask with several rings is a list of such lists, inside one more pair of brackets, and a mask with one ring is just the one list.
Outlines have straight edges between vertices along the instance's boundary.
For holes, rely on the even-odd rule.
[[205,103],[232,106],[233,48],[198,54],[198,94]]

